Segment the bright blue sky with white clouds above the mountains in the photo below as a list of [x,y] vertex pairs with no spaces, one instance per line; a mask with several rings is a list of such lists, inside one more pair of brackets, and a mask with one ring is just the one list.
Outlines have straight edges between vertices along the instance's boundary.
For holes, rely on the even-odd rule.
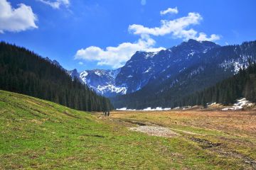
[[68,70],[117,69],[188,39],[256,40],[255,0],[0,0],[0,41]]

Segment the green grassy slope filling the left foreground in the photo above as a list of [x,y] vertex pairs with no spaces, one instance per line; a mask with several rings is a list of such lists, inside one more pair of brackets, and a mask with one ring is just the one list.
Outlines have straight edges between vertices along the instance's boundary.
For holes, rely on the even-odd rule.
[[186,137],[152,137],[49,101],[0,91],[0,169],[237,169]]

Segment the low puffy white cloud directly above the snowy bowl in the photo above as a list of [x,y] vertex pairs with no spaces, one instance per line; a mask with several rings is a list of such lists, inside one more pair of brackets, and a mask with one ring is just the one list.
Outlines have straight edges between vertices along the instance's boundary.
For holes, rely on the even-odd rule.
[[142,35],[137,42],[123,42],[117,47],[106,47],[105,50],[95,46],[78,50],[75,59],[97,61],[98,65],[109,65],[112,68],[119,68],[137,51],[156,52],[164,50],[164,47],[155,48],[155,43],[149,36]]

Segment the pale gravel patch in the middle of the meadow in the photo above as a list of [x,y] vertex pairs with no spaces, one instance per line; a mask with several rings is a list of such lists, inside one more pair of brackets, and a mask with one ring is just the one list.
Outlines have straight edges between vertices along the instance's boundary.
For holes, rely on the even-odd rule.
[[129,130],[136,131],[136,132],[144,132],[151,136],[158,136],[158,137],[175,137],[178,134],[169,128],[159,127],[159,126],[139,126],[134,128],[129,128]]

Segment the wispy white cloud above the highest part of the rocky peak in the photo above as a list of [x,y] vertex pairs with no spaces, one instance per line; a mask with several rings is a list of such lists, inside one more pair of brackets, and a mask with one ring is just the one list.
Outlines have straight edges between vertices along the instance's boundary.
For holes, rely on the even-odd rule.
[[219,40],[219,35],[210,35],[206,33],[198,33],[191,26],[198,25],[203,18],[199,13],[188,13],[188,16],[177,18],[171,21],[161,20],[161,26],[155,28],[147,28],[142,25],[133,24],[129,26],[129,31],[135,35],[154,35],[163,36],[171,34],[173,38],[182,38],[183,40]]

